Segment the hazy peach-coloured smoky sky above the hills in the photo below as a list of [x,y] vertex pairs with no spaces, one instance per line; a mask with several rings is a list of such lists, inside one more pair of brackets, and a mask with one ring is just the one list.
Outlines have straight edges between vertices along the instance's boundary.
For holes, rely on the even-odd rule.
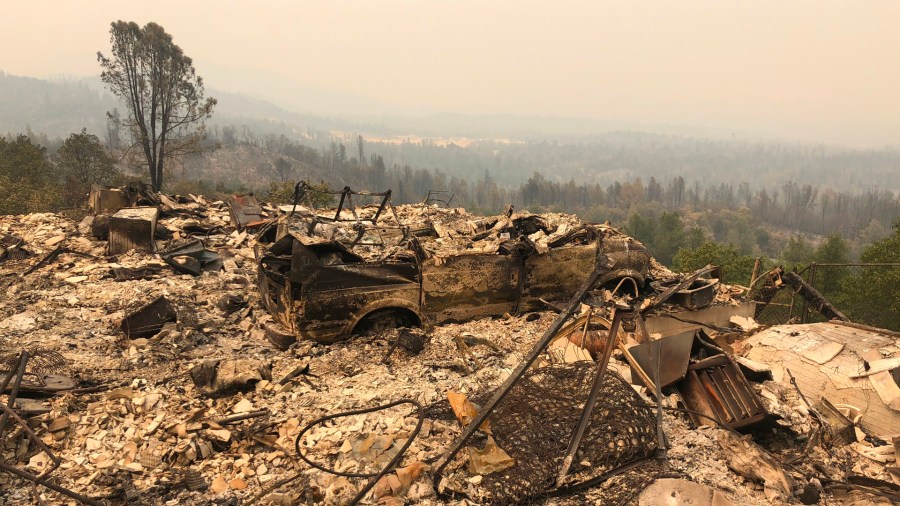
[[890,0],[2,3],[0,69],[17,75],[98,74],[111,21],[155,21],[208,87],[275,101],[296,83],[399,113],[900,144],[900,2]]

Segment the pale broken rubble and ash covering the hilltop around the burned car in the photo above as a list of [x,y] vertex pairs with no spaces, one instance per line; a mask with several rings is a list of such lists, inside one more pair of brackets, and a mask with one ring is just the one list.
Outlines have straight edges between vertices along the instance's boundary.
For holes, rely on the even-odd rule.
[[[267,335],[275,317],[261,300],[257,259],[277,244],[267,236],[268,223],[298,223],[284,221],[284,208],[242,196],[231,200],[242,206],[236,213],[234,204],[202,196],[152,202],[154,195],[137,190],[130,200],[105,191],[112,193],[93,199],[98,215],[83,221],[0,216],[0,380],[16,378],[11,368],[27,351],[31,365],[14,410],[49,450],[9,417],[0,461],[40,475],[58,459],[45,483],[100,504],[338,505],[355,501],[367,482],[373,486],[362,504],[535,497],[559,505],[895,504],[900,498],[896,333],[837,322],[758,326],[743,287],[719,283],[714,270],[690,282],[653,259],[633,290],[601,290],[578,306],[507,404],[472,427],[469,451],[451,459],[436,490],[441,458],[516,373],[568,297],[518,314],[378,328],[331,344],[299,339],[279,350]],[[110,255],[107,237],[115,226],[106,220],[106,232],[98,233],[94,225],[121,208],[148,205],[159,214],[142,236],[143,251]],[[360,212],[372,216],[377,207]],[[396,213],[390,220],[430,224],[420,244],[432,263],[452,262],[461,250],[503,254],[510,239],[504,234],[517,219],[543,223],[525,234],[534,255],[552,255],[558,239],[584,225],[568,215],[485,218],[434,205],[397,206]],[[236,215],[252,219],[238,230]],[[595,227],[633,241],[608,225]],[[342,236],[352,227],[328,230],[329,240],[354,239]],[[378,247],[351,251],[383,258]],[[674,290],[679,283],[685,288]],[[593,361],[607,350],[616,304],[633,307],[640,321],[617,331],[579,458],[554,486],[556,462],[584,404],[575,394],[591,389]],[[644,366],[631,354],[642,342],[642,325],[653,342],[686,335],[687,350],[671,355],[682,358],[662,357],[671,361],[664,367],[672,377],[660,385],[660,411],[650,386],[666,375],[647,366],[652,353]],[[764,406],[764,423],[740,427],[744,435],[722,428],[729,403],[735,412],[746,408],[734,390],[733,398],[710,400],[705,419],[684,412],[692,404],[680,382],[710,360],[727,361],[746,376],[748,395]],[[708,391],[733,388],[727,378],[715,383],[716,374],[709,373]],[[5,406],[11,397],[7,388],[0,401]],[[836,414],[826,416],[823,401]],[[548,441],[557,431],[562,440]],[[540,461],[553,465],[542,468]],[[549,484],[527,476],[548,472]],[[0,503],[40,501],[78,503],[0,469]]]

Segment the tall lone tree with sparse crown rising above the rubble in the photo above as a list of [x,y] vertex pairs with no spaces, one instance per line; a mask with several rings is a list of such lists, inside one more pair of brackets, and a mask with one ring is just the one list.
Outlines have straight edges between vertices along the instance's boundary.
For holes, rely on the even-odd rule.
[[203,121],[212,114],[216,100],[204,99],[203,78],[192,60],[158,24],[141,28],[116,21],[110,43],[108,57],[97,53],[103,69],[100,78],[125,102],[128,114],[121,124],[132,132],[132,148],[141,150],[150,184],[159,191],[170,163],[199,150]]

